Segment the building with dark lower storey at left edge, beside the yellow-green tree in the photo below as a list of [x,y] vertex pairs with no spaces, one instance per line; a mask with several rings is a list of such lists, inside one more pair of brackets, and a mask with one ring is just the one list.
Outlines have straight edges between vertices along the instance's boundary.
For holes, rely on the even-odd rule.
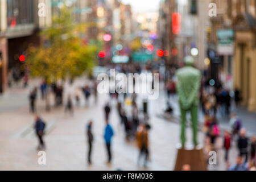
[[[45,5],[40,6],[44,16],[38,14],[39,3]],[[0,1],[0,93],[8,88],[9,78],[24,71],[19,56],[26,55],[29,46],[38,46],[40,28],[50,25],[51,0]]]

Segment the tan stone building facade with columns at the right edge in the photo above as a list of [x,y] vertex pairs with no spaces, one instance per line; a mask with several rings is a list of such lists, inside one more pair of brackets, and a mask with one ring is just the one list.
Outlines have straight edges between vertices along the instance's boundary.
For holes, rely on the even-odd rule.
[[[211,18],[212,43],[220,45],[220,31],[232,30],[233,47],[226,49],[221,58],[221,81],[225,84],[232,76],[233,89],[241,92],[241,104],[256,111],[256,2],[212,1],[217,5],[217,16]],[[230,75],[230,76],[229,76]]]

